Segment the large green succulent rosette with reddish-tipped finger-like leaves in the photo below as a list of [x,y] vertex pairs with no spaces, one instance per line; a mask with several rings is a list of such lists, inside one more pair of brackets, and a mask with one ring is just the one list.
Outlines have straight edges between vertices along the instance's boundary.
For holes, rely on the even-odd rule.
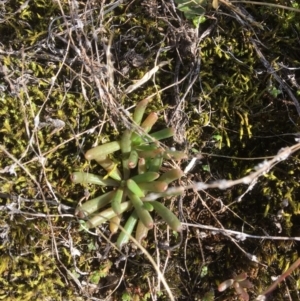
[[[174,130],[165,128],[158,132],[150,133],[152,126],[158,119],[156,113],[150,113],[142,122],[148,100],[142,100],[136,105],[133,113],[135,126],[140,126],[143,134],[137,130],[124,130],[121,139],[88,150],[85,154],[87,160],[96,160],[106,170],[107,175],[87,172],[74,172],[71,179],[74,183],[96,184],[111,187],[106,192],[94,199],[78,205],[75,214],[85,219],[85,227],[95,228],[104,222],[110,222],[110,231],[116,233],[125,211],[132,211],[127,219],[124,229],[117,239],[117,247],[121,248],[129,240],[129,234],[135,231],[135,238],[141,241],[147,236],[148,230],[153,227],[151,211],[157,214],[174,230],[181,232],[182,226],[179,219],[167,207],[158,201],[149,201],[150,193],[161,193],[162,197],[170,196],[164,192],[170,183],[182,177],[181,169],[170,169],[161,172],[163,160],[180,160],[185,158],[183,152],[165,149],[158,143],[159,140],[172,137]],[[112,154],[121,151],[121,169],[112,158]],[[174,189],[173,195],[182,194],[183,190]],[[136,226],[137,225],[137,226]]]

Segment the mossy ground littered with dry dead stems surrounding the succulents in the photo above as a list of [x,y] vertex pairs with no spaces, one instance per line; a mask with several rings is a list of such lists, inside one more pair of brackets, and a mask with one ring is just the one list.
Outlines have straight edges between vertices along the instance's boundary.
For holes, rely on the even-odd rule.
[[[300,236],[299,5],[269,2],[201,1],[195,28],[180,1],[2,1],[0,299],[237,300],[217,287],[246,273],[250,300],[299,300],[297,269],[268,291]],[[156,130],[176,129],[190,188],[165,201],[184,242],[163,250],[178,237],[154,216],[148,256],[80,230],[98,188],[70,181],[100,173],[83,154],[145,98]]]

